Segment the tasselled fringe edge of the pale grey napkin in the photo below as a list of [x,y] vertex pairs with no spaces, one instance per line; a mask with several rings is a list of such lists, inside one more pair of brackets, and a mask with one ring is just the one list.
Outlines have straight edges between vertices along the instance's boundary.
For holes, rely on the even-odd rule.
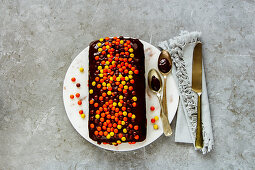
[[[201,36],[200,32],[187,32],[182,31],[178,37],[163,41],[159,46],[163,49],[167,49],[176,67],[176,77],[178,78],[179,91],[183,103],[187,110],[185,114],[186,119],[189,120],[188,126],[191,134],[191,138],[194,144],[196,136],[197,126],[197,95],[192,91],[191,84],[189,81],[188,73],[185,67],[185,61],[183,59],[183,47],[188,43],[196,43]],[[203,154],[210,152],[213,148],[213,139],[211,140],[206,132],[206,127],[203,125],[203,138],[204,147],[202,149]]]

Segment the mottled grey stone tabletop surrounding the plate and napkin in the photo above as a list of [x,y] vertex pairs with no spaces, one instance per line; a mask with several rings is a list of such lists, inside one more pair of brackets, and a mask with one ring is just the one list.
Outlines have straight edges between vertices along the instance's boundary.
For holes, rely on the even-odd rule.
[[[1,0],[0,169],[254,169],[254,16],[254,0]],[[163,136],[124,153],[85,141],[62,101],[72,59],[100,37],[157,45],[181,30],[203,33],[214,151]]]

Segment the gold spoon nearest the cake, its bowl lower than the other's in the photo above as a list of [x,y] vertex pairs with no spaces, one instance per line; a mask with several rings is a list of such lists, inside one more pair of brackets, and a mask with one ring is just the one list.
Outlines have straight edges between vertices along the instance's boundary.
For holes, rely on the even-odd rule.
[[160,90],[162,87],[162,80],[157,70],[151,69],[148,73],[148,84],[149,88],[157,94],[159,103],[160,103],[160,118],[162,120],[163,131],[165,136],[170,136],[172,134],[172,130],[169,124],[168,116],[163,113],[163,107],[161,102]]

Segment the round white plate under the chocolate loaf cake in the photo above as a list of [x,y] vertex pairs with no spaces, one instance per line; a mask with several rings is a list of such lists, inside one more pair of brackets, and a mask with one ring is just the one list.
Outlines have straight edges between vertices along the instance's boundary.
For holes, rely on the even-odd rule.
[[[147,136],[143,142],[137,142],[135,144],[122,143],[118,146],[108,145],[108,144],[97,144],[89,138],[88,131],[88,117],[89,117],[89,103],[88,103],[88,53],[89,47],[85,48],[71,63],[67,70],[64,85],[63,85],[63,99],[66,109],[67,116],[72,123],[76,131],[83,136],[90,143],[107,150],[112,151],[131,151],[135,149],[142,148],[149,145],[151,142],[155,141],[163,134],[162,123],[159,119],[155,123],[158,125],[158,130],[153,129],[153,124],[151,123],[151,118],[159,116],[160,107],[157,97],[152,93],[147,86],[147,75],[150,69],[157,69],[157,60],[160,51],[153,45],[140,40],[144,45],[145,53],[145,77],[146,77],[146,117],[147,117]],[[83,67],[84,72],[80,72],[79,68]],[[72,82],[71,78],[75,77],[76,82]],[[80,83],[81,87],[77,88],[76,83]],[[143,90],[143,89],[141,89]],[[75,96],[76,93],[80,93],[79,98],[70,99],[70,95]],[[78,105],[78,100],[82,100],[82,105]],[[177,110],[177,105],[179,102],[179,95],[177,86],[171,74],[168,75],[167,79],[167,103],[168,103],[168,118],[171,122],[174,118],[175,112]],[[151,111],[150,107],[154,106],[155,110]],[[83,110],[86,117],[83,119],[79,114],[79,110]],[[171,136],[172,137],[172,136]]]

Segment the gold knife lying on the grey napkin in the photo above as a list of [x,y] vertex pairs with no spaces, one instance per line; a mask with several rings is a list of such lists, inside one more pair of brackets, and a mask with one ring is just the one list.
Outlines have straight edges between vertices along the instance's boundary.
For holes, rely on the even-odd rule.
[[192,90],[198,95],[197,101],[197,128],[195,147],[203,148],[202,135],[202,111],[201,111],[201,95],[202,95],[202,43],[196,44],[193,51],[192,63]]

